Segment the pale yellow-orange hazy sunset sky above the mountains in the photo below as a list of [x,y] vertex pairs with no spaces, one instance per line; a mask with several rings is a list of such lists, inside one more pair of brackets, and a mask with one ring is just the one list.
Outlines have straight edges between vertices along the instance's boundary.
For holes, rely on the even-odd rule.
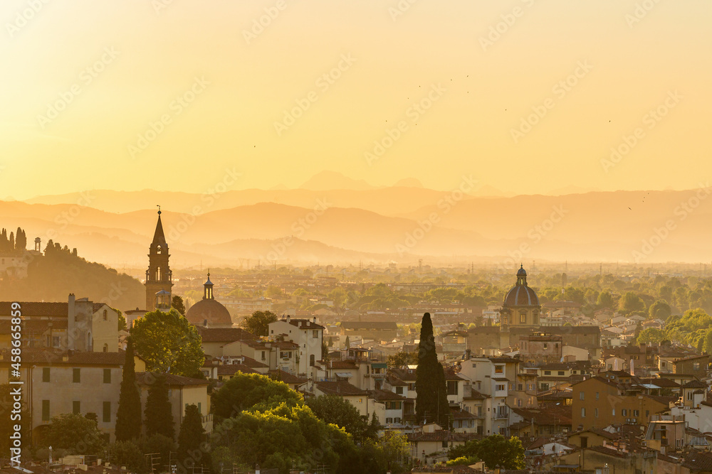
[[706,0],[3,0],[0,198],[204,192],[226,168],[234,188],[323,170],[696,188],[712,178],[711,19]]

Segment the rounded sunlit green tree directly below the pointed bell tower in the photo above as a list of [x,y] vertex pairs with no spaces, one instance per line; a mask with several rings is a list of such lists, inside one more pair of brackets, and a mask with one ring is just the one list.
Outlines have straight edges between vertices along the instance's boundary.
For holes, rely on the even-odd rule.
[[147,372],[190,377],[205,360],[197,329],[175,309],[146,313],[134,321],[131,338]]

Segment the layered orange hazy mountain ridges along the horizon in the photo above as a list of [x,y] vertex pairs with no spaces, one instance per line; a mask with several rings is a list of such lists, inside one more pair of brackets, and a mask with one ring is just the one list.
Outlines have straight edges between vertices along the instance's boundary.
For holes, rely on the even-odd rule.
[[[415,183],[405,183],[415,184]],[[219,196],[155,190],[90,192],[0,202],[6,227],[28,241],[52,235],[87,259],[145,264],[161,204],[172,262],[708,262],[706,191],[617,191],[513,197],[416,186],[234,190]],[[458,198],[458,199],[455,199]],[[199,209],[198,215],[192,212]]]

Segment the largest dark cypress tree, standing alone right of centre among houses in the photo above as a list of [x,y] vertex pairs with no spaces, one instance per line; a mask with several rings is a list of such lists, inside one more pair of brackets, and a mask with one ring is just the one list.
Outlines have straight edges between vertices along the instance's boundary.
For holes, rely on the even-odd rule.
[[423,420],[434,421],[443,429],[450,428],[450,405],[447,401],[447,385],[443,366],[438,362],[435,352],[435,336],[430,313],[423,315],[420,326],[418,345],[418,368],[415,372],[415,416],[420,423]]

